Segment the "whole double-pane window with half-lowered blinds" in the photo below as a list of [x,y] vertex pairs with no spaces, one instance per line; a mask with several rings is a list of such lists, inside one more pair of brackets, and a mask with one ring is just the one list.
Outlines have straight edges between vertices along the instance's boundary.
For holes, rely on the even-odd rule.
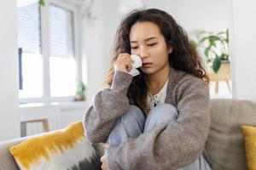
[[38,2],[18,8],[21,102],[73,99],[79,79],[76,10],[57,3],[40,9]]

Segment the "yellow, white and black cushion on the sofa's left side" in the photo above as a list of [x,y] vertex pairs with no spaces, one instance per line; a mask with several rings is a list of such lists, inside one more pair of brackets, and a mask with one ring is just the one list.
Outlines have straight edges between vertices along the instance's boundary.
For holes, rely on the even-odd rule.
[[84,136],[82,122],[11,146],[20,169],[98,169],[100,156]]

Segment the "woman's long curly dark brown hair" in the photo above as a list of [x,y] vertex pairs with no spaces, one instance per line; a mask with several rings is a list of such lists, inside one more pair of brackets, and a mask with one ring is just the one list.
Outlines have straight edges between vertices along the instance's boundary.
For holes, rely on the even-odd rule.
[[[131,45],[129,33],[131,26],[137,22],[153,22],[160,28],[160,33],[165,37],[167,47],[173,48],[169,54],[169,64],[178,71],[185,71],[195,77],[201,78],[209,83],[207,72],[203,68],[201,56],[196,49],[189,43],[189,37],[181,26],[172,18],[170,14],[156,8],[143,10],[133,10],[127,14],[121,21],[116,32],[115,44],[113,47],[113,59],[111,68],[105,79],[104,85],[111,87],[113,82],[113,62],[121,53],[131,54]],[[133,77],[130,87],[128,88],[127,97],[133,105],[137,105],[144,113],[148,112],[147,93],[145,74],[141,69],[140,75]],[[172,73],[171,73],[172,74]]]

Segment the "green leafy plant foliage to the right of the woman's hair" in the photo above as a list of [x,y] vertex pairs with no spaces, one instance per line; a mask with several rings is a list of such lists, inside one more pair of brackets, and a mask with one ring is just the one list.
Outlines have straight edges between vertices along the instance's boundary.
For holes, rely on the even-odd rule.
[[218,73],[222,63],[230,63],[229,55],[229,30],[219,32],[199,31],[197,40],[190,43],[203,54],[207,65]]

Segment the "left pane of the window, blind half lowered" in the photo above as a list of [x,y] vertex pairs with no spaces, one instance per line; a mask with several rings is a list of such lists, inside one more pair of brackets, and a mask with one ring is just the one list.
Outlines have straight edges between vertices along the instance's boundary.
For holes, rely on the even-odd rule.
[[18,9],[18,47],[22,68],[19,96],[20,98],[42,97],[43,75],[38,3]]

